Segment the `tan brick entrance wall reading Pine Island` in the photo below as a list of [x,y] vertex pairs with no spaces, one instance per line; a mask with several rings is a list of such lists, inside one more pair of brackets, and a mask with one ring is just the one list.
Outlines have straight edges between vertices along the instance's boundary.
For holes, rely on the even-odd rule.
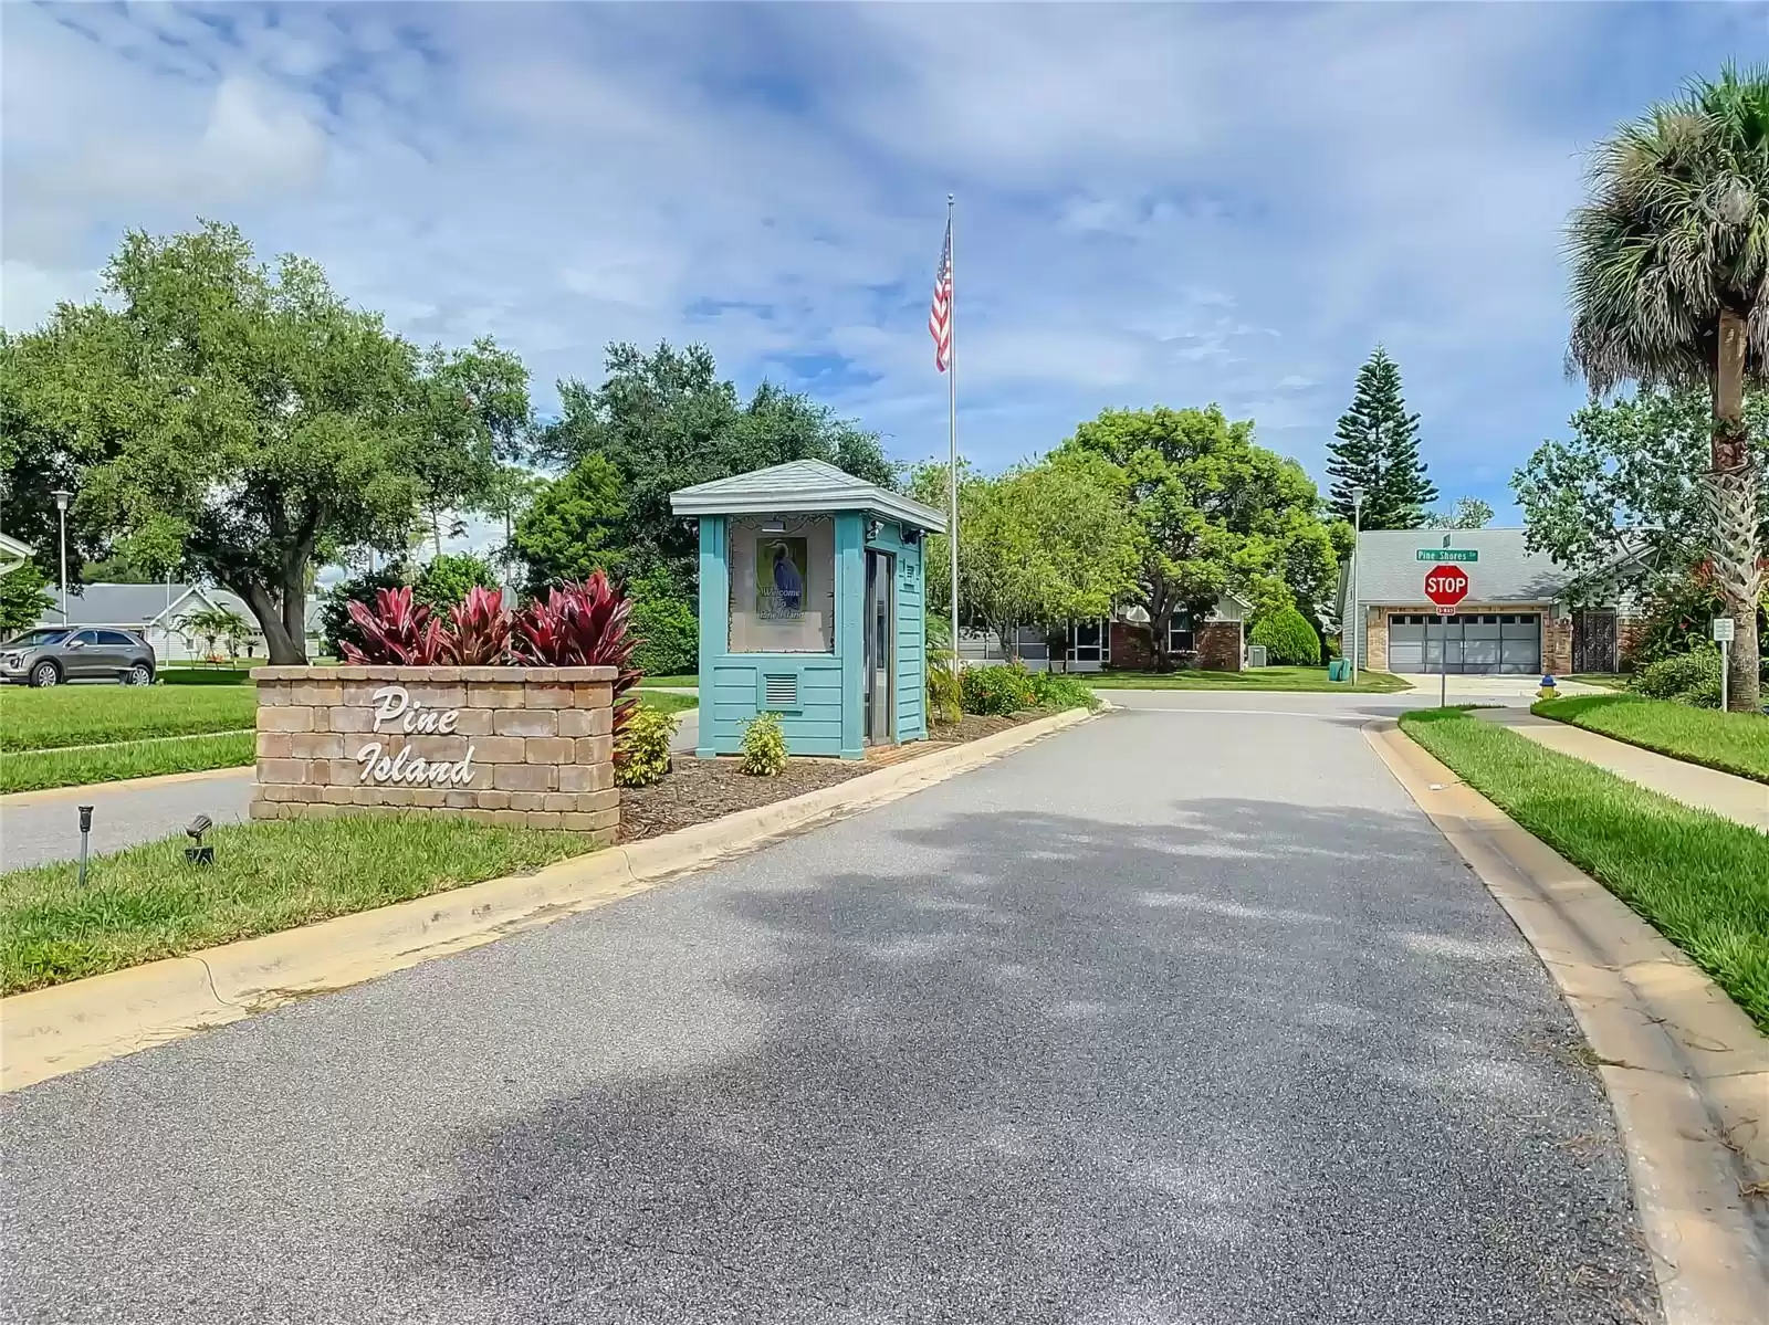
[[425,810],[614,840],[612,667],[260,667],[253,819]]

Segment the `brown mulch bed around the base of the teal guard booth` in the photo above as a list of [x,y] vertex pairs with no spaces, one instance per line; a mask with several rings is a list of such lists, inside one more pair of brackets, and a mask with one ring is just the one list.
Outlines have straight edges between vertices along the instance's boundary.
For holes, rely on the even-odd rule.
[[1044,713],[1015,713],[1010,718],[980,718],[966,713],[957,727],[934,727],[932,739],[906,747],[883,747],[881,757],[867,759],[793,759],[785,773],[773,778],[752,778],[738,771],[736,759],[695,759],[676,755],[670,775],[653,787],[621,789],[621,840],[639,842],[678,828],[690,828],[708,819],[720,819],[757,805],[773,805],[789,796],[801,796],[817,787],[872,773],[884,764],[913,759],[952,745],[994,736],[1022,722],[1042,718]]

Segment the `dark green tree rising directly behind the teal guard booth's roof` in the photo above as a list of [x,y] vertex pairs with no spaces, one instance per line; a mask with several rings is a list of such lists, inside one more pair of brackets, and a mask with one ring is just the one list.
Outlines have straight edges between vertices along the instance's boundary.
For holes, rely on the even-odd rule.
[[561,467],[587,456],[614,465],[623,517],[609,547],[624,548],[633,564],[663,563],[683,586],[695,582],[699,540],[670,513],[676,488],[789,460],[826,460],[869,483],[895,478],[877,433],[770,382],[739,400],[704,345],[658,345],[651,354],[610,345],[601,386],[559,384],[559,419],[541,430],[536,456]]

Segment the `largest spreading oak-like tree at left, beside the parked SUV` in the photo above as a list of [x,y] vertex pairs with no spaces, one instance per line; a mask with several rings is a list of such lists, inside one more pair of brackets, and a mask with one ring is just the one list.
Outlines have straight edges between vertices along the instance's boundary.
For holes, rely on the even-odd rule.
[[432,506],[471,508],[515,361],[481,341],[419,352],[295,257],[239,230],[131,232],[106,301],[62,304],[21,340],[34,426],[85,465],[76,511],[117,547],[237,593],[272,663],[304,658],[311,568],[405,545]]

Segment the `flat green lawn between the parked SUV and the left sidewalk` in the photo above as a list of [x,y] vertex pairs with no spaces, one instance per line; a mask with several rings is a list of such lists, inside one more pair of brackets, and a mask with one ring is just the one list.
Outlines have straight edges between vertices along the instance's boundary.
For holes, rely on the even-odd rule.
[[257,686],[0,686],[0,750],[48,750],[251,727]]

